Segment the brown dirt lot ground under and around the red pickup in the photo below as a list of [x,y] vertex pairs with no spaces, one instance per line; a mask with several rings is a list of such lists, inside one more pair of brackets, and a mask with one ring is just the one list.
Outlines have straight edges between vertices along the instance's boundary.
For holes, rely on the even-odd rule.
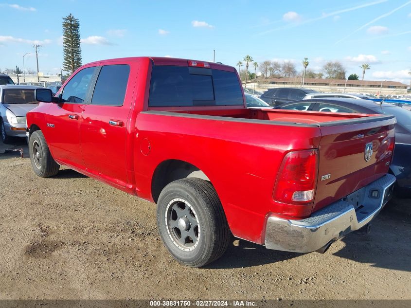
[[38,178],[19,152],[0,154],[0,179],[0,299],[411,299],[411,200],[325,254],[237,239],[190,269],[162,246],[155,204],[65,168]]

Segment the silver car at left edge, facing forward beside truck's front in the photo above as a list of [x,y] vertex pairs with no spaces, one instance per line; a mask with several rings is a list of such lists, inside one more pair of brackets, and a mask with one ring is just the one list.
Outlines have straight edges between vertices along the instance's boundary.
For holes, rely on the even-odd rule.
[[0,130],[3,143],[26,137],[26,113],[38,105],[35,86],[0,85]]

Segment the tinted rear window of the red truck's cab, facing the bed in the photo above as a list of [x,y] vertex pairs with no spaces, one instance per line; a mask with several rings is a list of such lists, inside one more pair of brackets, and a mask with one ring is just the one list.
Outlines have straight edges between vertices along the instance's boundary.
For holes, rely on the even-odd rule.
[[235,72],[155,65],[151,72],[149,107],[244,105]]

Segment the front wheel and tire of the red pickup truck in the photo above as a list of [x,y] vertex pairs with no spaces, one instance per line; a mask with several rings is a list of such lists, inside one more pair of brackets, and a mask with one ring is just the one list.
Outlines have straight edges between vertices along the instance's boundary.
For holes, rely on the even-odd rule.
[[54,161],[41,130],[36,130],[31,134],[29,154],[33,171],[39,177],[49,178],[58,173],[60,165]]

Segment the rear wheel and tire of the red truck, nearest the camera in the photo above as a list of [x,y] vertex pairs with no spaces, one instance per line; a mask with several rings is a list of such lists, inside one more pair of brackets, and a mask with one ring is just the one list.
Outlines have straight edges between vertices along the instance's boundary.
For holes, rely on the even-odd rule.
[[164,187],[157,206],[157,226],[170,254],[179,263],[195,268],[223,255],[231,239],[213,185],[197,178],[173,181]]

